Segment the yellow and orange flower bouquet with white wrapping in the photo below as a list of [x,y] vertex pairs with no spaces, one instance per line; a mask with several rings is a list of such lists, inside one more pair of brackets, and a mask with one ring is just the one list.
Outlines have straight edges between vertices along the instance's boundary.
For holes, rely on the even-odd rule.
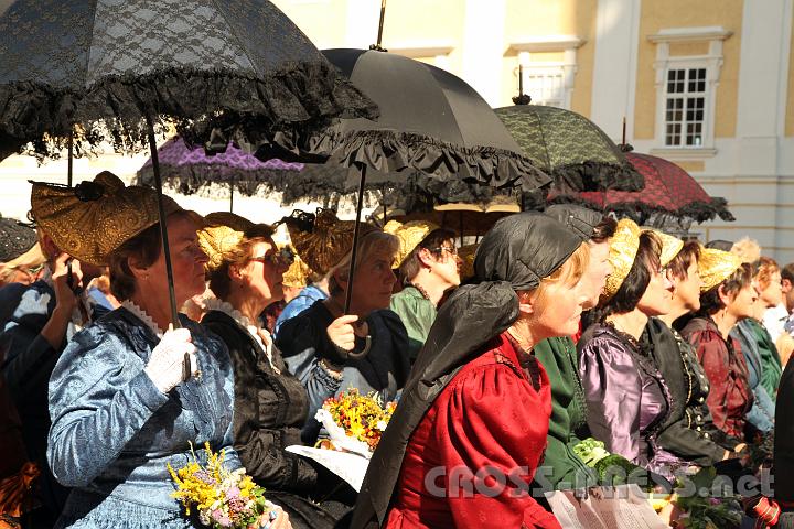
[[323,402],[316,412],[320,421],[329,432],[330,442],[321,441],[322,447],[344,450],[371,457],[397,402],[385,407],[374,393],[360,395],[355,388],[332,397]]

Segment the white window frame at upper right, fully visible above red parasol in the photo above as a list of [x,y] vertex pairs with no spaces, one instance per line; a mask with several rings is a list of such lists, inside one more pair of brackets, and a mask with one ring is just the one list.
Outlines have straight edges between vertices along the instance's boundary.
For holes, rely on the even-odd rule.
[[[717,87],[719,86],[722,69],[722,42],[732,33],[719,26],[710,28],[676,28],[659,31],[650,35],[648,40],[656,44],[656,125],[654,130],[654,154],[662,154],[673,159],[694,159],[713,156],[715,149],[715,109],[717,104]],[[708,53],[705,55],[670,56],[672,42],[708,42]],[[700,68],[706,71],[706,90],[704,101],[704,121],[700,145],[667,145],[667,78],[670,69]],[[686,112],[686,107],[684,108]],[[686,129],[682,129],[682,137],[686,137]],[[683,141],[685,143],[685,140]]]

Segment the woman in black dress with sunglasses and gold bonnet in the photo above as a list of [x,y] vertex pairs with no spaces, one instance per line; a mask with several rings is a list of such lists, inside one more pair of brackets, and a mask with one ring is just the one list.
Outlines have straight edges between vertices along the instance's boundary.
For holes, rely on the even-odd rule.
[[[309,499],[329,487],[310,460],[287,452],[301,444],[308,395],[290,375],[259,315],[283,298],[281,287],[289,258],[272,239],[273,228],[230,213],[206,217],[198,233],[210,289],[202,325],[227,345],[235,375],[234,446],[248,474],[282,506],[296,529],[333,527],[336,519]],[[322,471],[320,471],[322,472]]]

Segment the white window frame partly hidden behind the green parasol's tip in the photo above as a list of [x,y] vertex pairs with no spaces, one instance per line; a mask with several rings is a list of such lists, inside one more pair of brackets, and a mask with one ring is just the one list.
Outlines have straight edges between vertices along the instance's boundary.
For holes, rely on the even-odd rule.
[[[526,75],[534,68],[559,67],[562,71],[562,102],[560,108],[570,110],[571,97],[573,95],[573,80],[576,78],[577,62],[576,51],[584,40],[575,35],[546,35],[546,36],[527,36],[511,42],[511,50],[518,53],[518,64]],[[561,62],[533,61],[533,53],[562,53]],[[516,68],[518,75],[518,68]],[[524,83],[525,93],[535,98],[534,94],[526,91],[527,84]],[[539,102],[539,98],[536,98]]]

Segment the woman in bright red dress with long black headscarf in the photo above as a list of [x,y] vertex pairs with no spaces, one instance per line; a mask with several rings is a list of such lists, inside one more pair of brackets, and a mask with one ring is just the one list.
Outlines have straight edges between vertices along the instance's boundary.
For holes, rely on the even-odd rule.
[[573,334],[587,245],[536,213],[480,244],[478,284],[442,305],[369,463],[352,527],[559,528],[532,497],[551,412],[533,346]]

